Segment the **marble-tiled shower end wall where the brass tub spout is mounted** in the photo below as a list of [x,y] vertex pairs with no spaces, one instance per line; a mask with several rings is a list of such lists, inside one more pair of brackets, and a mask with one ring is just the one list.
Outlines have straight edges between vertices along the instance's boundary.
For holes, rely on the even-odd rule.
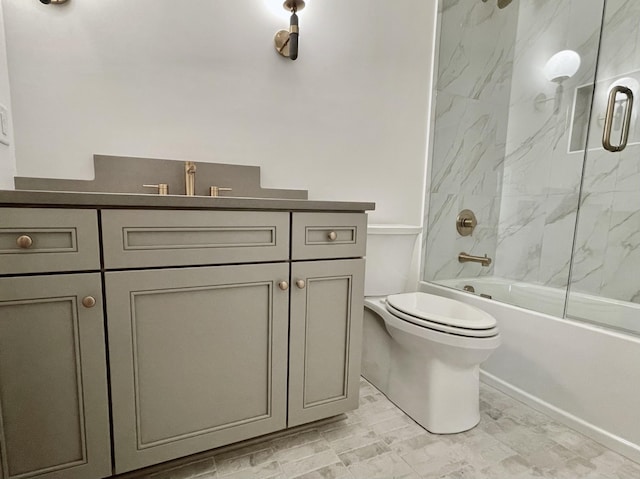
[[[494,258],[517,3],[443,0],[424,267],[427,280],[492,274],[493,266],[460,264],[465,251]],[[455,229],[460,210],[472,209],[473,236]]]

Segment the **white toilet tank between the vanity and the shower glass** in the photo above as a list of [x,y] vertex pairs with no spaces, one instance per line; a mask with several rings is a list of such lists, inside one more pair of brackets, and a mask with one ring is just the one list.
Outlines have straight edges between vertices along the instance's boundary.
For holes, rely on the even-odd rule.
[[369,225],[365,296],[386,296],[415,290],[420,226]]

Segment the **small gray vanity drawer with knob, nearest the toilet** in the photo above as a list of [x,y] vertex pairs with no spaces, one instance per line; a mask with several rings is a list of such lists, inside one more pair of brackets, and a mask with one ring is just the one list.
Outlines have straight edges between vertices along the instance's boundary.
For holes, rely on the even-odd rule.
[[294,213],[291,258],[357,258],[364,256],[367,215],[364,213]]

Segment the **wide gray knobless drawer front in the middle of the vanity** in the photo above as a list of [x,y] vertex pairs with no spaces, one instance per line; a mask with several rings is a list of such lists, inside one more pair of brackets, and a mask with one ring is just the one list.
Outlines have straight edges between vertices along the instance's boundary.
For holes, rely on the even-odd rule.
[[105,210],[102,241],[107,269],[286,261],[289,214]]

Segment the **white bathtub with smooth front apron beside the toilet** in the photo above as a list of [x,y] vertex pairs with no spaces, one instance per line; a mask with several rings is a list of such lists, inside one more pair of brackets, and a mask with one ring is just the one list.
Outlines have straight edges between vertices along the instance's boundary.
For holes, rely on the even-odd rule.
[[[483,382],[640,462],[639,337],[560,319],[555,314],[562,311],[564,294],[552,288],[498,278],[456,280],[451,285],[471,285],[476,294],[426,282],[418,289],[471,304],[498,320],[502,345],[482,364]],[[525,307],[535,304],[553,314],[478,293]],[[598,323],[615,319],[618,329],[637,331],[633,319],[640,322],[640,309],[629,303],[610,304],[584,295],[572,309]]]

